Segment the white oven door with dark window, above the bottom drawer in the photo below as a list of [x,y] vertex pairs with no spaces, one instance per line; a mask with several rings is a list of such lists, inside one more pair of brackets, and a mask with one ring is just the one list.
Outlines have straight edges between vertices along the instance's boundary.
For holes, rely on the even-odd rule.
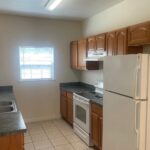
[[89,130],[89,121],[90,121],[90,114],[89,114],[89,102],[75,98],[74,99],[74,123],[78,125],[81,129],[85,132],[90,133]]

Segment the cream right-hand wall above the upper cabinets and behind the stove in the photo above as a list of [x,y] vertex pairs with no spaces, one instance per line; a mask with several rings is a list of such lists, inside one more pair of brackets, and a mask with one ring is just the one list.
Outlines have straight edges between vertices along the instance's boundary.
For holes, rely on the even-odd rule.
[[[84,37],[96,35],[148,20],[150,20],[150,0],[124,0],[85,20],[83,22],[83,35]],[[93,83],[92,77],[95,76],[99,77],[100,80],[103,79],[102,71],[82,72],[81,81]]]

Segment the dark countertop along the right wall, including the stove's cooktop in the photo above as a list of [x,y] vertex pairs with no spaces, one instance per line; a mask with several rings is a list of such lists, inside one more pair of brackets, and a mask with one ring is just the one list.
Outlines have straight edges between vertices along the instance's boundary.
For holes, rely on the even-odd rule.
[[90,99],[90,102],[103,105],[103,95],[95,93],[95,87],[93,85],[85,84],[82,82],[69,82],[60,83],[60,88],[62,90],[77,93],[80,96],[88,98]]

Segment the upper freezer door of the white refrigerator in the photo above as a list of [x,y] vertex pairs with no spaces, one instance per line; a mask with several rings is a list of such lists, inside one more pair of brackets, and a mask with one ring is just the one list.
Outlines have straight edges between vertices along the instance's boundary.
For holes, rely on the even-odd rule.
[[105,57],[104,89],[147,99],[148,57],[148,54]]

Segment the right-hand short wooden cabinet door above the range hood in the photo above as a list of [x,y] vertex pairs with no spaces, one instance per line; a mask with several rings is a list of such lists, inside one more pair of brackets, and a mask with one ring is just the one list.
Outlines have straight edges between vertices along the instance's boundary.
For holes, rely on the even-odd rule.
[[106,50],[106,34],[99,34],[96,36],[96,49]]

